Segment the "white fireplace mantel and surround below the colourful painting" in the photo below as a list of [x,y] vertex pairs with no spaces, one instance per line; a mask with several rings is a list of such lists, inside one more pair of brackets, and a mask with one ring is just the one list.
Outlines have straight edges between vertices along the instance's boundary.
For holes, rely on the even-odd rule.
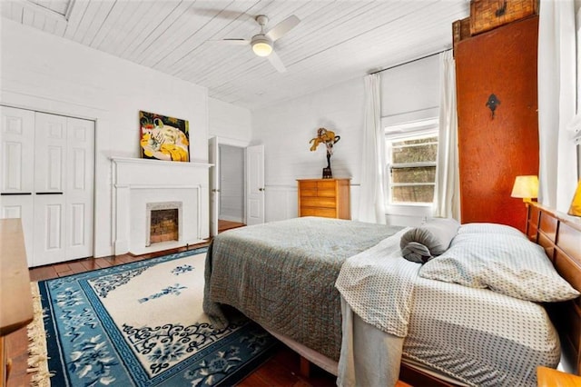
[[[201,243],[209,235],[208,169],[212,164],[112,157],[115,255]],[[147,203],[182,202],[180,240],[146,246]]]

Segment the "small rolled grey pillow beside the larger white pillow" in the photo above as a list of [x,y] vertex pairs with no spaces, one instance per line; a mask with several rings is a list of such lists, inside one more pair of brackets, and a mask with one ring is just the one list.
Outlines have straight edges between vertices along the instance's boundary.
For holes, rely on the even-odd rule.
[[426,263],[448,249],[459,226],[455,219],[434,218],[421,227],[412,228],[399,240],[401,255],[411,262]]

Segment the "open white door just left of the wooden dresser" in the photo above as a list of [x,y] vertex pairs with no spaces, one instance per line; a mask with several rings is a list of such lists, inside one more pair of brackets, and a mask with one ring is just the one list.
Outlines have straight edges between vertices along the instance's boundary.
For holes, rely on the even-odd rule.
[[264,145],[246,148],[246,224],[264,223]]

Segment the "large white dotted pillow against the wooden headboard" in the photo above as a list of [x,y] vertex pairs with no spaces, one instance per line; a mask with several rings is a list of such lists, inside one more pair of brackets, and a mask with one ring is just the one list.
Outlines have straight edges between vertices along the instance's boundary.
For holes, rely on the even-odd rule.
[[503,233],[458,234],[446,253],[422,266],[419,276],[537,303],[579,295],[556,273],[541,246]]

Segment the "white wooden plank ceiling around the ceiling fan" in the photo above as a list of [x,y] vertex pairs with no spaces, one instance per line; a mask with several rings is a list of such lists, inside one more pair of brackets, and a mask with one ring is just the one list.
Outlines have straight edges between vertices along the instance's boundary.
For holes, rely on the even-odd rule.
[[[449,48],[468,0],[194,1],[3,0],[1,15],[205,86],[213,98],[257,109]],[[277,72],[248,45],[289,15],[300,24],[275,42]]]

